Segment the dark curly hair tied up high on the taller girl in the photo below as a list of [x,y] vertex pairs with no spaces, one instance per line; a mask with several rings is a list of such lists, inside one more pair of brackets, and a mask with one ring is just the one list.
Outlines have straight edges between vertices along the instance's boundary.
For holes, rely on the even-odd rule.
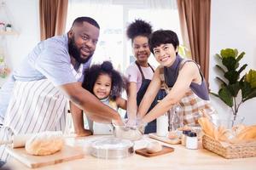
[[132,22],[126,31],[127,37],[131,38],[133,42],[134,37],[143,36],[148,37],[152,33],[152,26],[144,20],[135,20]]

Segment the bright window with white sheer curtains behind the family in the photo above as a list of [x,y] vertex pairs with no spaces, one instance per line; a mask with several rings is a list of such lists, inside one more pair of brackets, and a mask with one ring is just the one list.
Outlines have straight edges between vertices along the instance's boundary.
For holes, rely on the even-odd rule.
[[[126,37],[126,26],[135,19],[150,22],[154,31],[158,29],[176,31],[179,40],[182,40],[175,0],[159,0],[157,3],[149,0],[113,0],[109,1],[111,3],[101,0],[70,0],[69,2],[66,31],[70,29],[73,20],[79,16],[90,16],[101,26],[93,63],[111,60],[116,69],[125,71],[127,66],[135,60],[131,41]],[[153,55],[149,57],[149,63],[158,65]]]

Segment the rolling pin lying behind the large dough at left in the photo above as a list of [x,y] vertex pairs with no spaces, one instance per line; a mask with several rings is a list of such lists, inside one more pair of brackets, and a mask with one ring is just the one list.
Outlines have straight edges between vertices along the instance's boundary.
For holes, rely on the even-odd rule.
[[32,133],[13,135],[11,140],[0,141],[0,144],[12,144],[12,148],[21,148],[26,144],[26,140],[32,137]]

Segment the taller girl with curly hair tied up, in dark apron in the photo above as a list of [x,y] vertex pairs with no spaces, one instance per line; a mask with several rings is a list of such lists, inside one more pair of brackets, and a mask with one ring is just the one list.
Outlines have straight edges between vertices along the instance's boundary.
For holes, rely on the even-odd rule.
[[[127,37],[131,39],[133,54],[136,58],[134,63],[126,69],[126,77],[128,78],[128,103],[127,116],[131,125],[136,123],[137,106],[140,105],[143,95],[146,93],[149,83],[154,75],[154,68],[149,65],[148,57],[150,50],[148,47],[148,37],[152,33],[152,26],[144,20],[135,20],[126,31]],[[157,103],[156,97],[152,106]],[[156,121],[149,122],[145,128],[145,133],[156,132]]]

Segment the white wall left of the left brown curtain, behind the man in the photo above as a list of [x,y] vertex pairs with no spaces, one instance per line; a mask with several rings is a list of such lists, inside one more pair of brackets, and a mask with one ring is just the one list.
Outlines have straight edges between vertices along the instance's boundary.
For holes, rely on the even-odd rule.
[[[5,59],[13,70],[40,40],[38,0],[0,0],[6,3],[0,20],[9,20],[18,35],[0,36]],[[3,83],[3,79],[0,80]]]

